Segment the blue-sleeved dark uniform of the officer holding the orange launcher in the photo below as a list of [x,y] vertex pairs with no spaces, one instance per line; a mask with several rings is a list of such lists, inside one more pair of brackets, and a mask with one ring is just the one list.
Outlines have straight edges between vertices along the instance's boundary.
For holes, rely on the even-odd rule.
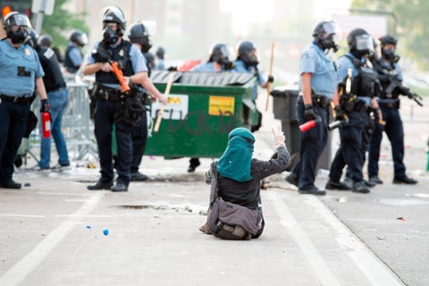
[[[99,49],[100,46],[104,46],[108,54],[111,55],[111,61],[122,63],[124,76],[133,75],[135,67],[138,67],[139,71],[147,71],[143,55],[129,41],[122,39],[115,46],[105,45],[104,42],[101,42],[97,44],[97,48]],[[88,57],[88,63],[92,63],[95,60],[92,55]],[[139,63],[133,63],[133,61]],[[143,67],[144,69],[141,70]],[[101,179],[96,186],[89,186],[88,189],[107,189],[107,187],[110,188],[112,185],[112,181],[114,180],[112,130],[115,124],[118,151],[116,162],[116,171],[118,172],[117,185],[125,186],[125,188],[119,188],[120,190],[128,190],[132,161],[132,124],[123,120],[123,114],[125,101],[128,100],[127,98],[130,98],[128,97],[130,95],[124,94],[119,89],[119,80],[114,75],[114,72],[97,71],[96,83],[97,87],[94,92],[94,100],[96,100],[94,122],[100,155]]]

